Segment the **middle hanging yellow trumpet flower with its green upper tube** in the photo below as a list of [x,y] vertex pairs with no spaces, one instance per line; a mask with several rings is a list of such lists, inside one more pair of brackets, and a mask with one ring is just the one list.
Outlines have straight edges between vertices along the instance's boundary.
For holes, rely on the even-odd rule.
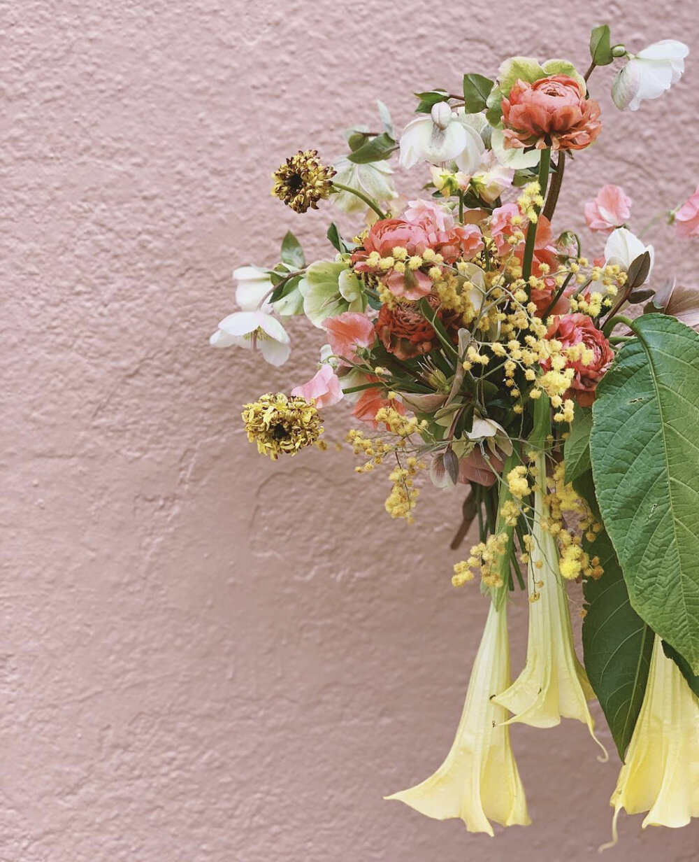
[[[529,640],[527,662],[513,684],[495,701],[509,709],[512,721],[535,728],[552,728],[561,717],[583,721],[593,739],[594,721],[587,702],[594,696],[585,669],[578,661],[572,643],[568,597],[560,576],[559,550],[548,532],[550,513],[545,504],[546,457],[544,440],[550,433],[547,397],[535,407],[534,523],[529,557]],[[597,740],[596,740],[597,741]],[[602,746],[603,747],[603,746]],[[606,752],[605,752],[606,755]]]

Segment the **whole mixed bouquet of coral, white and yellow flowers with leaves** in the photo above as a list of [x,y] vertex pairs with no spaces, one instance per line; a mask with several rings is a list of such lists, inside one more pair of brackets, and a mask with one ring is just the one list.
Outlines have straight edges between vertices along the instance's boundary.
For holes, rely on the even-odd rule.
[[[618,186],[585,204],[588,227],[609,234],[603,256],[553,227],[566,163],[602,131],[592,72],[621,66],[613,101],[636,110],[677,82],[688,48],[633,55],[601,26],[590,52],[585,74],[513,57],[494,80],[467,73],[462,92],[418,93],[399,140],[379,103],[384,131],[349,129],[333,166],[315,150],[287,159],[276,197],[298,213],[327,200],[363,221],[351,239],[331,223],[331,259],[306,264],[288,233],[280,262],[234,272],[241,310],[211,338],[282,365],[285,318],[319,331],[307,383],[244,405],[260,453],[325,448],[321,414],[344,402],[359,426],[347,434],[356,471],[386,470],[394,518],[412,522],[420,474],[467,489],[453,547],[472,522],[479,541],[452,581],[479,578],[486,627],[454,745],[389,798],[491,835],[491,821],[529,823],[510,726],[566,717],[596,739],[594,696],[622,759],[614,833],[621,809],[647,812],[644,827],[699,816],[699,297],[649,284],[653,247],[628,229]],[[398,197],[397,152],[422,172],[424,197]],[[666,215],[699,236],[699,189]],[[572,580],[585,594],[583,663]],[[529,642],[513,681],[517,590]]]

